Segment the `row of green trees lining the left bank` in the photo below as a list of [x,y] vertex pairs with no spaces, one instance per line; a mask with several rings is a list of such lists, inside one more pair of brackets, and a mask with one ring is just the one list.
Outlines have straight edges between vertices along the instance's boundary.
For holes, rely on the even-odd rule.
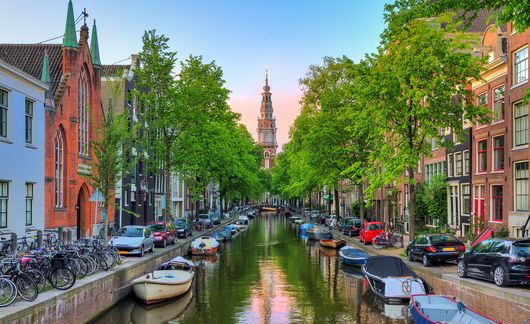
[[201,56],[189,56],[175,73],[177,55],[168,41],[154,30],[143,36],[131,93],[138,121],[130,122],[129,111],[114,116],[109,103],[104,121],[95,125],[92,147],[97,159],[91,182],[103,194],[104,210],[112,204],[116,183],[139,160],[148,172],[165,178],[164,219],[171,215],[170,179],[175,173],[191,190],[196,213],[212,182],[218,184],[225,206],[258,198],[264,191],[263,153],[228,105],[230,91],[222,69]]

